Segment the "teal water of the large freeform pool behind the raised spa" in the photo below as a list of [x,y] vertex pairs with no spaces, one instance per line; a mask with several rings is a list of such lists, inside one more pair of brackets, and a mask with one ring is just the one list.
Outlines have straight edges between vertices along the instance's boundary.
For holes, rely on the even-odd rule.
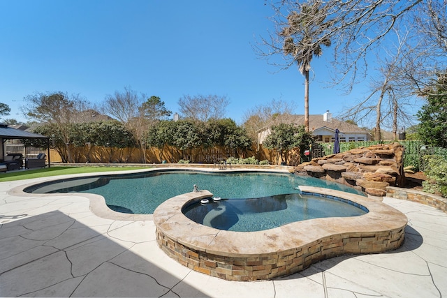
[[110,209],[123,213],[153,214],[162,202],[182,193],[206,189],[223,199],[264,198],[298,194],[298,186],[331,188],[362,194],[355,189],[312,177],[274,172],[201,172],[158,170],[144,173],[98,175],[61,179],[25,188],[28,193],[94,193],[102,195]]

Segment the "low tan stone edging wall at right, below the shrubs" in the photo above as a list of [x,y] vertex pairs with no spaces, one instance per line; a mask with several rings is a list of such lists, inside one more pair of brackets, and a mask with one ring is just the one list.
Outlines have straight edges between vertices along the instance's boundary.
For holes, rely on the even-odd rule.
[[442,198],[439,195],[432,195],[430,193],[424,193],[423,191],[414,191],[408,188],[388,186],[386,188],[386,196],[400,200],[418,202],[447,213],[447,199]]

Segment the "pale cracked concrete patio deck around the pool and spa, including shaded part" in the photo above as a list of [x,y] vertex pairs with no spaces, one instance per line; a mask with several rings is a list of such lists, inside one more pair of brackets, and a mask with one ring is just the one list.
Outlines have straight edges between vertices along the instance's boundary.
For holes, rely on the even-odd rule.
[[[53,178],[54,179],[54,178]],[[384,198],[409,218],[396,251],[344,255],[272,281],[224,281],[170,259],[152,216],[99,217],[83,195],[0,183],[0,297],[444,297],[447,214]]]

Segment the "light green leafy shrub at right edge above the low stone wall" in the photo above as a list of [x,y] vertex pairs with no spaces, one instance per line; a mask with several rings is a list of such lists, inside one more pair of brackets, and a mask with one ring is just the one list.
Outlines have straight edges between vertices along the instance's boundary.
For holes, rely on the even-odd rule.
[[425,175],[428,180],[423,181],[424,191],[427,193],[441,193],[447,198],[447,160],[442,156],[424,156],[427,161]]

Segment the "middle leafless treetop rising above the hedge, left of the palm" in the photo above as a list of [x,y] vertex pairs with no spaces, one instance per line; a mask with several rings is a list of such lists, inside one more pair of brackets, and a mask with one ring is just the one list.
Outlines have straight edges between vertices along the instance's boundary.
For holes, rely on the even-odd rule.
[[226,96],[217,95],[184,95],[178,100],[179,112],[182,116],[196,122],[225,118],[226,107],[229,103]]

